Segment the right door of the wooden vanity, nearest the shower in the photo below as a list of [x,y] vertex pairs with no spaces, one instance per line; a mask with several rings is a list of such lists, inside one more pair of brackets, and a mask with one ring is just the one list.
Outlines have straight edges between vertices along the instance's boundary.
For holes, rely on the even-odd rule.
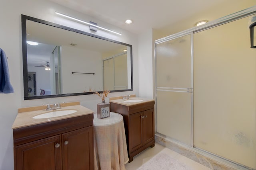
[[149,109],[143,112],[144,118],[142,119],[143,125],[143,144],[148,143],[154,139],[155,136],[155,119],[154,109]]

